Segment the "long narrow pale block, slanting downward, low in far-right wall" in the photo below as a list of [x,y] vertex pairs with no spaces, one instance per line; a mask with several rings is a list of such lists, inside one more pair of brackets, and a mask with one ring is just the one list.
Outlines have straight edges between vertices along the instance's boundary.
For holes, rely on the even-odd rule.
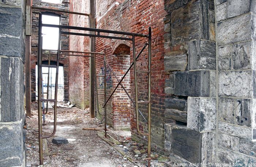
[[230,136],[236,136],[242,139],[252,140],[252,128],[245,126],[237,126],[225,122],[218,123],[219,132]]

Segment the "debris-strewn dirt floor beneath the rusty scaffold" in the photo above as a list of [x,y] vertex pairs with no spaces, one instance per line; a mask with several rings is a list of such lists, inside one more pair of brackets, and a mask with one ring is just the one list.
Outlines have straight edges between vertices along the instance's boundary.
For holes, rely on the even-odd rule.
[[[26,158],[27,167],[39,165],[38,147],[38,116],[37,103],[31,105],[31,118],[26,119]],[[43,135],[49,135],[53,131],[53,109],[46,114],[46,122],[43,126]],[[82,128],[103,129],[104,124],[100,120],[91,119],[89,111],[79,108],[57,108],[57,131],[53,136],[68,139],[68,144],[54,144],[53,138],[47,139],[49,153],[44,154],[46,167],[145,167],[147,166],[146,146],[131,140],[131,132],[115,131],[108,127],[108,133],[118,144],[111,143],[110,146],[97,131],[83,130]],[[44,147],[45,148],[45,147]],[[136,155],[134,150],[139,150]],[[45,151],[44,151],[45,152]],[[138,154],[138,153],[137,153]],[[161,156],[153,152],[154,156]],[[132,160],[132,162],[129,161]],[[151,160],[152,167],[166,167],[165,163]]]

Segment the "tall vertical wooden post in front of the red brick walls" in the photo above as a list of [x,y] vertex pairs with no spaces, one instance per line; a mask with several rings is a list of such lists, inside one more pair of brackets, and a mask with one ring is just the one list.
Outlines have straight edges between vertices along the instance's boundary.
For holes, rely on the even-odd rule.
[[[95,28],[95,2],[90,0],[90,17],[89,17],[90,28]],[[91,34],[94,32],[91,31]],[[90,37],[90,51],[95,52],[95,37]],[[94,57],[90,57],[90,117],[95,118],[95,94],[94,94],[94,80],[95,80],[95,70],[94,70]]]

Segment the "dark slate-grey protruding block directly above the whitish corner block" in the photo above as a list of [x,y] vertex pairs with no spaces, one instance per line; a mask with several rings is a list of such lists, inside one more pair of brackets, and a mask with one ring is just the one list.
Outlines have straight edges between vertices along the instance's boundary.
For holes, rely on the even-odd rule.
[[203,70],[174,72],[174,95],[209,97],[210,72]]

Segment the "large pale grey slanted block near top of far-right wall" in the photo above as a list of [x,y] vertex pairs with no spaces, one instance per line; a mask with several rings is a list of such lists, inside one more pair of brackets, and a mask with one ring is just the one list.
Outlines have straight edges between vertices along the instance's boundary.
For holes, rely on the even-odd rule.
[[225,20],[217,24],[216,40],[220,46],[252,39],[251,14]]

